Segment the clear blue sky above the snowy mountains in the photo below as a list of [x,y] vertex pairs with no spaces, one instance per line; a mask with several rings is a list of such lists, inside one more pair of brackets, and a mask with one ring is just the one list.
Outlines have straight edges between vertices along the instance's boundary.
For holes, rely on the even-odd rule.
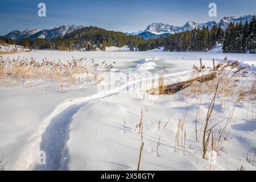
[[[38,17],[40,2],[46,3],[46,17]],[[208,16],[210,2],[217,4],[217,17]],[[58,24],[134,32],[152,22],[183,26],[188,20],[218,22],[224,16],[256,14],[255,0],[1,0],[0,5],[0,35]]]

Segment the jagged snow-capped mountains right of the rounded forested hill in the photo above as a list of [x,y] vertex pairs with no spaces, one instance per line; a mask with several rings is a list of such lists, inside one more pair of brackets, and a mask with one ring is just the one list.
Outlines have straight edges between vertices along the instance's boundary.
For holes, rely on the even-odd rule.
[[215,21],[210,21],[207,23],[195,23],[192,21],[188,21],[184,26],[173,26],[170,24],[164,24],[164,23],[152,23],[145,30],[141,30],[138,32],[125,32],[126,35],[137,35],[137,36],[142,36],[144,39],[149,39],[149,38],[157,38],[159,36],[166,36],[166,35],[171,35],[179,32],[184,32],[184,31],[190,31],[193,30],[194,28],[203,28],[203,27],[209,27],[212,28],[214,25],[216,26],[221,26],[224,30],[226,27],[228,27],[229,23],[245,23],[246,20],[250,22],[250,20],[253,18],[253,15],[244,15],[241,16],[240,18],[236,18],[235,16],[230,16],[230,17],[224,17],[220,20],[220,22],[215,22]]

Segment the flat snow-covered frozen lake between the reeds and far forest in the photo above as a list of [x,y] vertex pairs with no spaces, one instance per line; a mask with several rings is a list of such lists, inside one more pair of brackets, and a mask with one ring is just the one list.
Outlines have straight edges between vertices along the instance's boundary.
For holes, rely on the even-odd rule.
[[[225,57],[229,60],[239,60],[249,65],[256,65],[255,54],[240,54],[240,53],[212,53],[212,52],[130,52],[130,51],[90,51],[90,52],[65,52],[65,51],[35,51],[23,52],[14,55],[3,55],[4,59],[16,59],[17,57],[34,57],[37,61],[43,59],[62,61],[81,59],[86,57],[88,60],[96,61],[96,63],[113,63],[116,62],[115,68],[130,69],[137,67],[138,64],[145,64],[145,59],[149,62],[154,62],[155,65],[143,65],[144,69],[150,72],[159,72],[160,68],[166,67],[172,72],[184,71],[191,69],[193,65],[200,66],[200,58],[203,59],[205,66],[212,67],[212,59],[223,61]],[[104,63],[105,63],[104,62]],[[147,61],[146,61],[147,62]],[[146,63],[147,64],[147,63]],[[150,66],[150,67],[149,67]],[[146,68],[147,67],[147,68]],[[142,68],[143,69],[143,68]],[[141,69],[141,70],[142,70]]]

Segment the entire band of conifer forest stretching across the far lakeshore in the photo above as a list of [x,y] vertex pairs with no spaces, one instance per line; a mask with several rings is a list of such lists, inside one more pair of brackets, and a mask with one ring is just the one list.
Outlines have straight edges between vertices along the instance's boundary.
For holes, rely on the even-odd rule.
[[211,29],[203,27],[192,31],[179,32],[156,39],[145,40],[135,35],[108,31],[98,27],[84,27],[75,30],[63,38],[56,39],[19,39],[0,37],[0,43],[19,44],[33,49],[56,49],[64,51],[93,51],[105,47],[122,47],[128,45],[131,51],[146,51],[164,47],[165,51],[208,51],[216,43],[221,43],[224,52],[256,53],[256,19],[250,22],[230,23],[226,30],[221,26]]

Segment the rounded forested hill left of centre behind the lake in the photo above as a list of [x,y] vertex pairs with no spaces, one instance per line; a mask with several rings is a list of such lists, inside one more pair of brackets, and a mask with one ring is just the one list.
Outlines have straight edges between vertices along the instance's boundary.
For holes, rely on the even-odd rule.
[[[105,51],[105,47],[115,46],[122,47],[134,44],[138,48],[140,42],[144,39],[135,35],[126,35],[123,32],[108,31],[98,27],[84,27],[75,30],[63,38],[55,39],[19,39],[12,40],[0,37],[0,43],[19,44],[31,49],[56,49],[60,51],[94,51],[97,48]],[[135,49],[136,50],[136,49]]]

